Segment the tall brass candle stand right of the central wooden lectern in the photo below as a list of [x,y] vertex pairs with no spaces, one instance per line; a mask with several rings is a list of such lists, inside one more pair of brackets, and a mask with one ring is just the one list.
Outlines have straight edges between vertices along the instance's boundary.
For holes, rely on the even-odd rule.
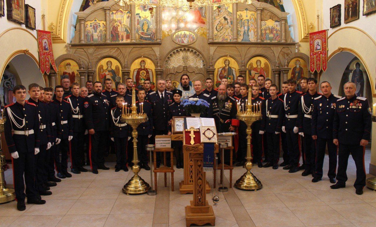
[[247,163],[245,168],[247,172],[243,174],[234,184],[238,189],[243,190],[258,190],[262,188],[262,183],[255,175],[252,174],[252,155],[251,155],[251,142],[252,142],[252,128],[253,122],[262,119],[261,104],[252,105],[252,90],[248,89],[248,103],[246,107],[238,105],[237,119],[242,120],[247,125]]

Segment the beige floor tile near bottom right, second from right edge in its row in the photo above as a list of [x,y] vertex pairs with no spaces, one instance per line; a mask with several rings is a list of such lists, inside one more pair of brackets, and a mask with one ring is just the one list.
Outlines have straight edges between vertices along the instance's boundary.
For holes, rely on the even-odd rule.
[[329,206],[290,207],[290,210],[305,225],[346,224],[346,218]]

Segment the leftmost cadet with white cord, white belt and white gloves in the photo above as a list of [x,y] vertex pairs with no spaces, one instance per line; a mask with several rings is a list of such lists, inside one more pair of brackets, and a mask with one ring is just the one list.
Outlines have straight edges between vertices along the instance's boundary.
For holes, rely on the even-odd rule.
[[28,204],[45,204],[46,201],[39,198],[34,181],[35,155],[39,153],[38,110],[35,104],[25,102],[26,88],[23,85],[14,87],[13,97],[16,98],[16,102],[4,108],[7,119],[4,134],[12,155],[17,209],[22,211],[26,209],[24,181]]

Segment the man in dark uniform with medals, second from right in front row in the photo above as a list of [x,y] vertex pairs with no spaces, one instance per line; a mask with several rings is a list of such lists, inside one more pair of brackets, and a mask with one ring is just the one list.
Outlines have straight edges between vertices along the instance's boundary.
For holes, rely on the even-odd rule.
[[315,98],[312,106],[312,139],[316,143],[316,164],[312,182],[317,182],[323,177],[323,163],[325,147],[328,147],[329,171],[328,177],[332,184],[335,183],[335,171],[337,169],[337,146],[333,143],[333,120],[336,110],[336,102],[341,96],[331,93],[329,82],[321,82],[320,95]]

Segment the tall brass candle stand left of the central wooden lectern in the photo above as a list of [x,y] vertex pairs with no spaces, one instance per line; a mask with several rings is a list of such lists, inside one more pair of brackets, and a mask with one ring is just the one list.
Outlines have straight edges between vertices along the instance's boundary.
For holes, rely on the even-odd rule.
[[132,136],[133,136],[133,166],[132,166],[132,172],[135,174],[128,183],[126,183],[123,187],[123,192],[126,194],[142,194],[146,193],[147,190],[150,189],[150,186],[148,183],[146,183],[143,178],[141,178],[138,173],[140,171],[140,166],[138,165],[138,154],[137,154],[137,127],[139,124],[144,123],[147,121],[147,115],[143,113],[142,108],[140,107],[140,113],[137,113],[137,107],[136,107],[136,91],[135,88],[132,88],[132,105],[130,107],[130,110],[132,112],[123,113],[120,116],[120,120],[123,123],[127,123],[130,126],[132,126]]

